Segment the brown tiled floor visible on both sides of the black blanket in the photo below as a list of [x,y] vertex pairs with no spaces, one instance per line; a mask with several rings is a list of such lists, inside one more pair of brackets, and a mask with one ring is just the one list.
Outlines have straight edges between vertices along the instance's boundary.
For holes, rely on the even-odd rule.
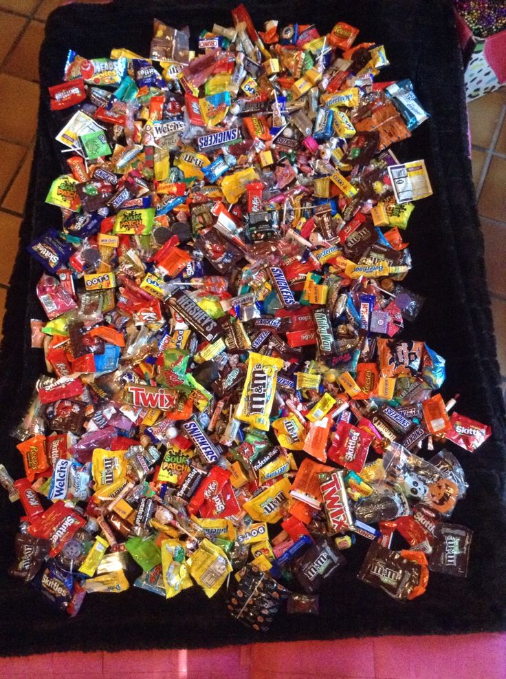
[[[0,259],[0,323],[32,162],[39,48],[45,19],[59,4],[61,0],[0,0],[0,251],[4,253]],[[506,88],[470,103],[469,114],[474,185],[506,390]]]

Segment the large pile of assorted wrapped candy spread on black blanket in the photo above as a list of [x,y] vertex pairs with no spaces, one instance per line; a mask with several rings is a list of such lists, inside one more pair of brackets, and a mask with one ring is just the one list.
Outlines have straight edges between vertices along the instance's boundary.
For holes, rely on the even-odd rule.
[[346,23],[232,19],[197,53],[160,21],[149,59],[71,52],[50,87],[63,224],[29,247],[50,375],[13,432],[26,477],[1,480],[25,511],[11,574],[71,615],[132,582],[226,581],[264,630],[318,613],[355,540],[358,578],[398,600],[467,571],[441,446],[490,430],[450,417],[444,359],[399,339],[423,303],[401,230],[432,190],[390,147],[428,113]]

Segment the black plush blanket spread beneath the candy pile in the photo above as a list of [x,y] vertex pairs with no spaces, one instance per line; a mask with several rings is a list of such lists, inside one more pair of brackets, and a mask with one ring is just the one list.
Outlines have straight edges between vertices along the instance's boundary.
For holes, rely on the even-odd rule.
[[[74,5],[47,21],[41,50],[39,134],[32,168],[21,248],[14,268],[3,326],[0,412],[1,462],[14,478],[23,475],[17,441],[8,436],[19,421],[36,377],[40,349],[30,348],[30,319],[42,319],[35,296],[41,267],[25,252],[32,238],[59,227],[58,210],[44,200],[65,169],[54,136],[65,119],[51,114],[47,86],[61,82],[69,48],[86,57],[126,47],[147,55],[153,17],[192,34],[214,22],[231,25],[234,0],[179,2],[123,0],[107,6]],[[406,286],[426,297],[404,336],[423,339],[447,360],[442,393],[460,393],[458,411],[490,424],[491,439],[474,454],[456,450],[470,484],[452,516],[474,530],[468,577],[431,573],[426,594],[397,603],[360,582],[356,574],[369,542],[347,553],[347,568],[320,595],[320,615],[278,616],[260,636],[228,615],[222,594],[211,600],[193,587],[166,601],[131,588],[118,595],[89,594],[76,618],[47,605],[29,585],[8,578],[21,507],[0,492],[0,654],[22,655],[72,649],[212,647],[262,640],[331,639],[381,634],[450,634],[505,629],[506,512],[505,410],[499,388],[492,315],[485,283],[471,163],[461,55],[450,3],[442,0],[284,0],[246,3],[257,28],[265,19],[315,22],[330,30],[336,21],[360,28],[360,41],[384,43],[391,67],[382,79],[410,78],[431,114],[412,138],[393,148],[400,161],[424,158],[434,195],[417,202],[407,240],[414,267]],[[21,93],[20,93],[21,94]]]

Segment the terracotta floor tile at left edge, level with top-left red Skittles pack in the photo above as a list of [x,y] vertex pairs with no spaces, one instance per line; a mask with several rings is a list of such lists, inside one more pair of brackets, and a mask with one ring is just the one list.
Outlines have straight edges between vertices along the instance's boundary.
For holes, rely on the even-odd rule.
[[1,136],[28,146],[37,129],[39,85],[2,73],[0,101]]

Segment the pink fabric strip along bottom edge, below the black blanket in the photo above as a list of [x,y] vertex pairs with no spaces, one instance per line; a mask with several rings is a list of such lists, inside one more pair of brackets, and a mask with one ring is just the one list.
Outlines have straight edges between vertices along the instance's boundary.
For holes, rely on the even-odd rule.
[[61,653],[0,660],[5,679],[504,679],[506,634]]

